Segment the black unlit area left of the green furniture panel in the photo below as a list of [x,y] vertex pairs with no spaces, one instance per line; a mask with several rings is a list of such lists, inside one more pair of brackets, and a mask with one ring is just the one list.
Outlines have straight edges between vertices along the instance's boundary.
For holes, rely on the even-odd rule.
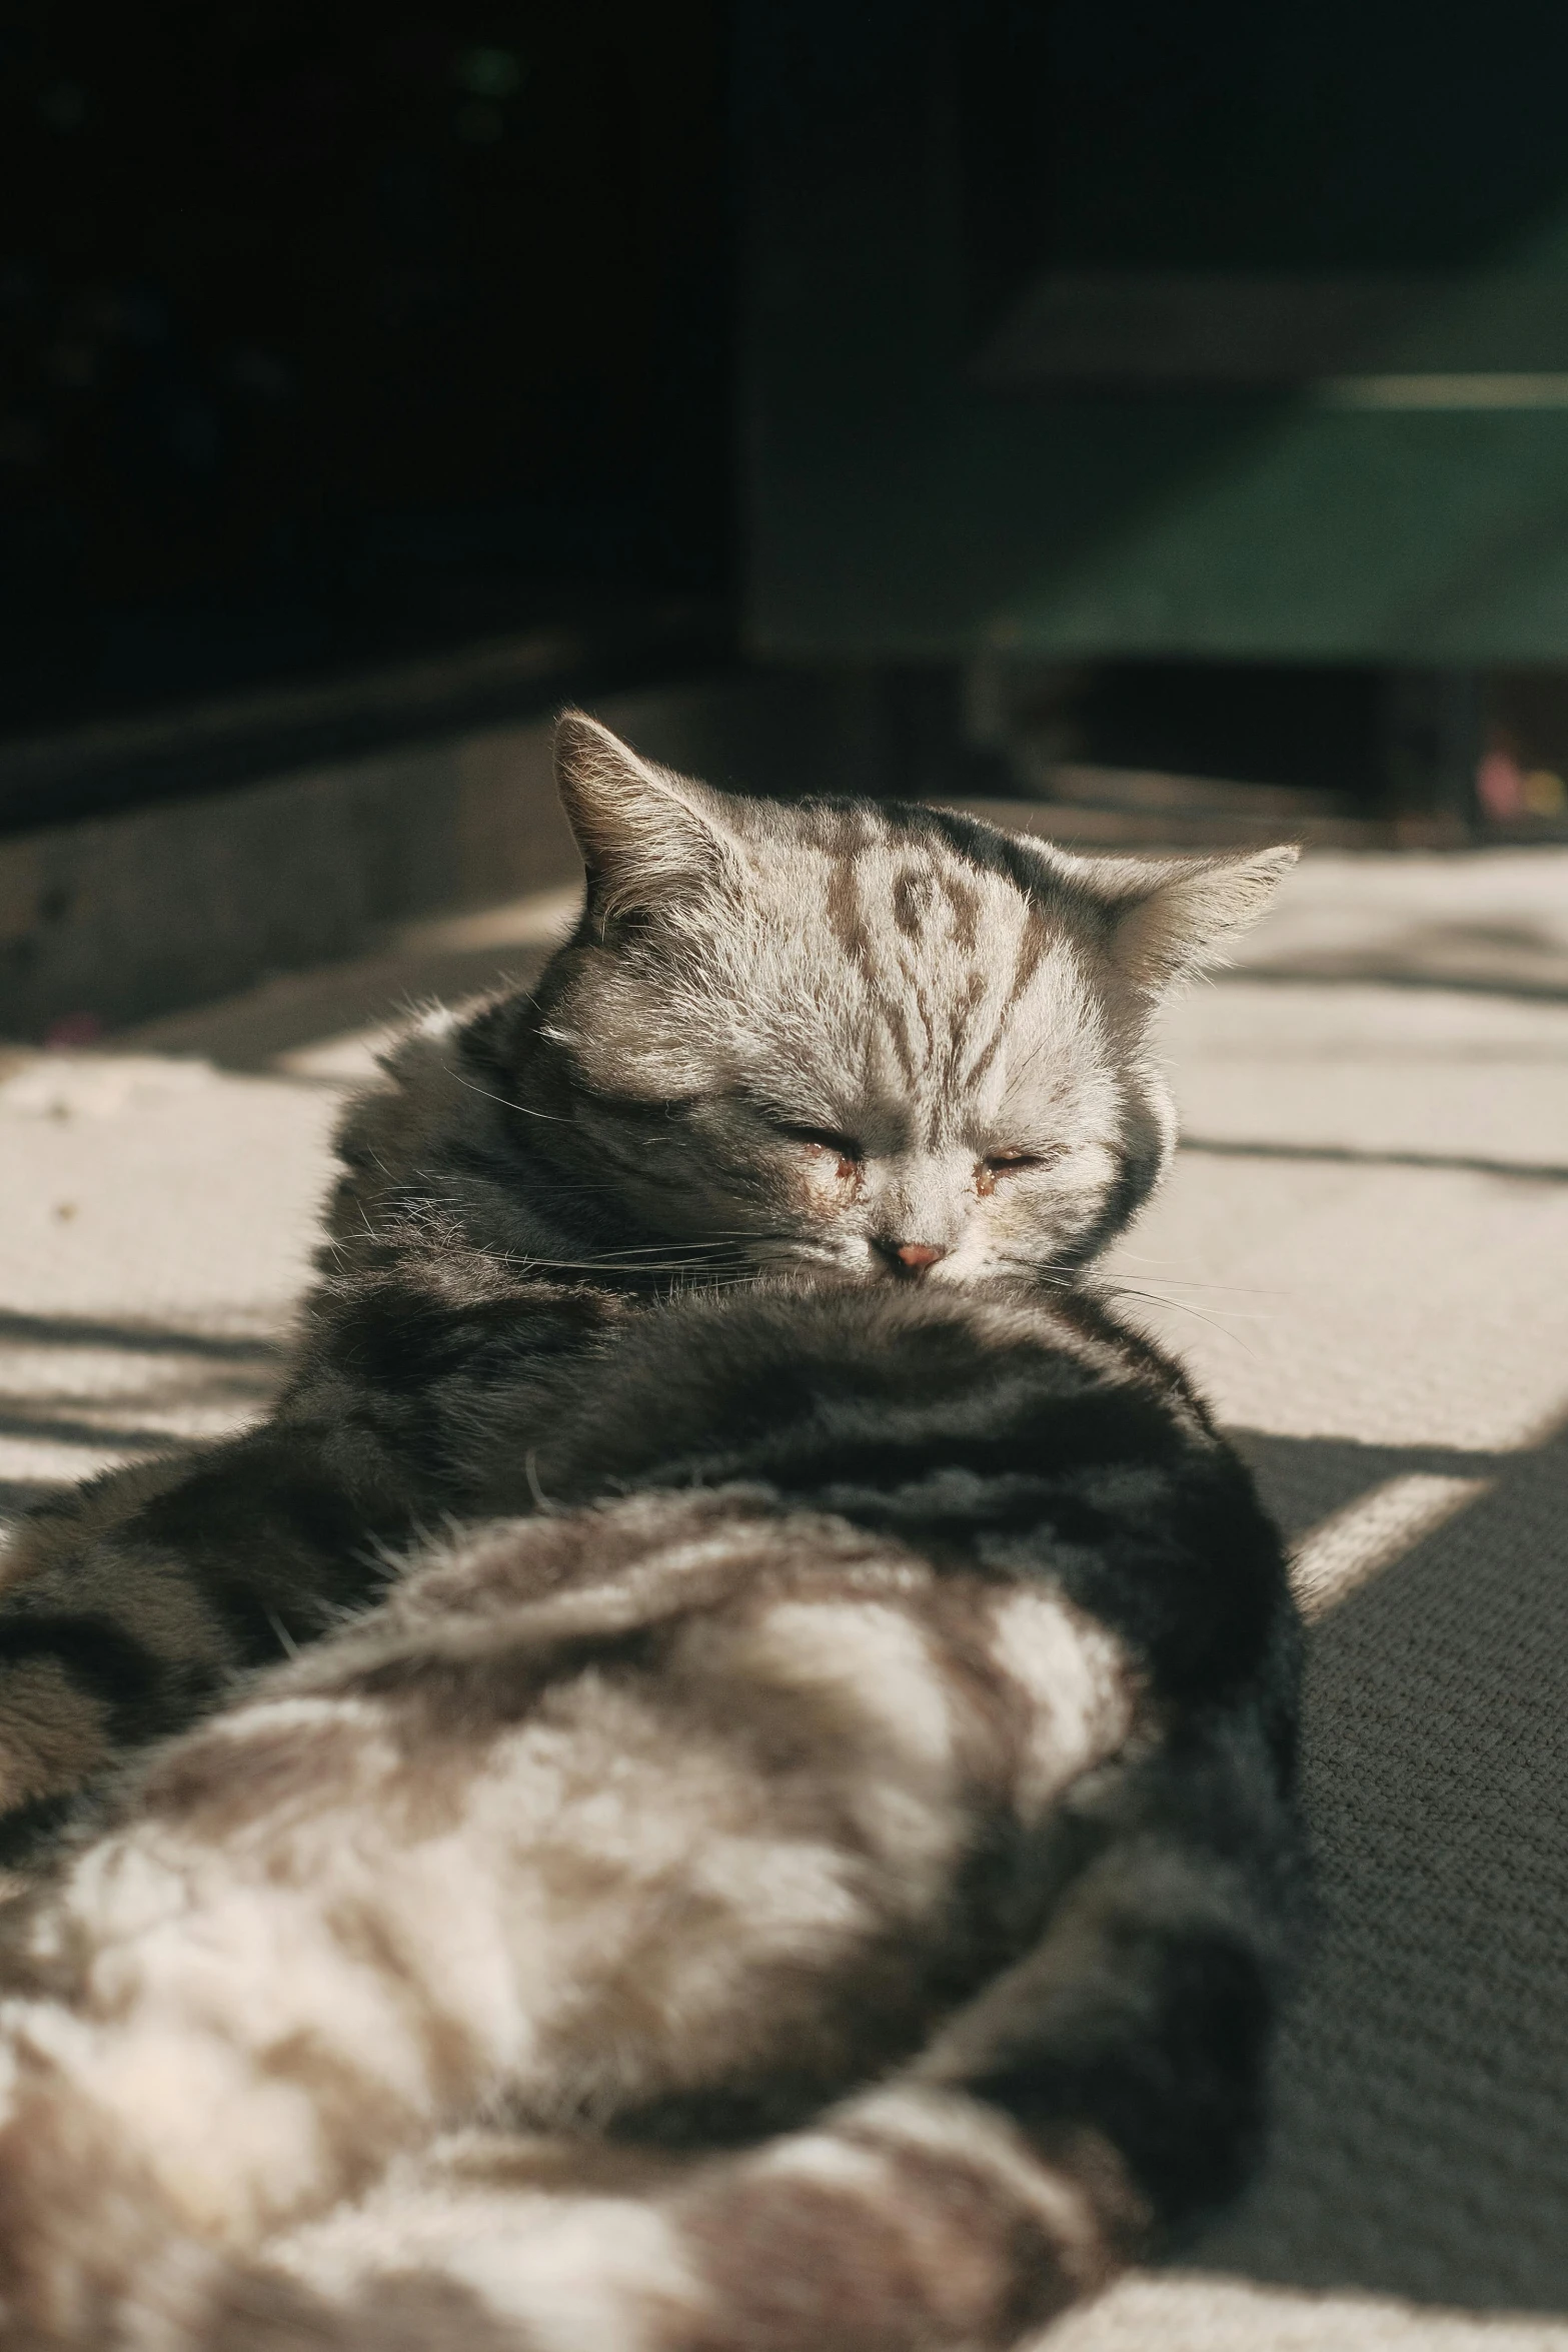
[[0,729],[724,597],[719,0],[0,5]]

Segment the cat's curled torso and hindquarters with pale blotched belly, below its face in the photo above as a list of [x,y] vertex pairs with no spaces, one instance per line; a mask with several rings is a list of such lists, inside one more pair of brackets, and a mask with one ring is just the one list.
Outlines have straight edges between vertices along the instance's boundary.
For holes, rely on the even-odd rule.
[[1300,1644],[1175,1367],[827,1268],[491,1437],[0,1915],[5,2343],[1001,2352],[1227,2199]]

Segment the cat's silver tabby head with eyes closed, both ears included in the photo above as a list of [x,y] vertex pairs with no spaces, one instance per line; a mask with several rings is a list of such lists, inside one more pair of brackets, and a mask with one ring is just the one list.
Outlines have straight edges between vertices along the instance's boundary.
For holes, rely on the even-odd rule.
[[1063,1275],[1175,1138],[1154,1009],[1293,849],[1079,858],[940,809],[759,802],[567,713],[588,901],[541,995],[581,1176],[722,1263]]

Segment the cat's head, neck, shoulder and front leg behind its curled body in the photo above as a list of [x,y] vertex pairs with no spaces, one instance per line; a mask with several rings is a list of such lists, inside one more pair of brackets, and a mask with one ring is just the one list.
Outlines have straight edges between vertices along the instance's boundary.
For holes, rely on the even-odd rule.
[[1293,849],[1081,858],[969,816],[762,802],[567,713],[588,870],[534,993],[433,1011],[350,1108],[266,1423],[21,1522],[0,1592],[0,1863],[113,1762],[317,1639],[473,1510],[501,1409],[672,1287],[1081,1275],[1159,1181],[1161,995]]

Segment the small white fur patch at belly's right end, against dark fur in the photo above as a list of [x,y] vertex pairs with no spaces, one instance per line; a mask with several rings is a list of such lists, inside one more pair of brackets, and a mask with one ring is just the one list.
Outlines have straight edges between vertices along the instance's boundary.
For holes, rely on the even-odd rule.
[[1121,1644],[1051,1592],[1011,1592],[992,1611],[992,1656],[1034,1708],[1018,1811],[1034,1818],[1133,1726],[1133,1679]]

